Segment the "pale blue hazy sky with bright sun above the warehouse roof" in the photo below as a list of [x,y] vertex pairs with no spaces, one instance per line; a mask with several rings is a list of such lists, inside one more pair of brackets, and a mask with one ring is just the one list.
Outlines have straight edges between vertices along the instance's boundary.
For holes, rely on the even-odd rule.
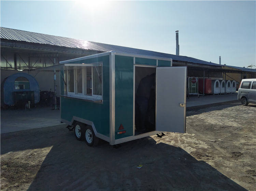
[[256,65],[256,1],[2,1],[1,27]]

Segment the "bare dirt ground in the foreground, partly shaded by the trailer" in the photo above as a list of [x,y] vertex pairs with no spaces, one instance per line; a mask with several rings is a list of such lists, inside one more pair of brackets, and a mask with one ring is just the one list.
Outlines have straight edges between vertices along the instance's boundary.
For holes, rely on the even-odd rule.
[[1,190],[255,190],[256,105],[189,109],[186,131],[117,149],[65,125],[2,134]]

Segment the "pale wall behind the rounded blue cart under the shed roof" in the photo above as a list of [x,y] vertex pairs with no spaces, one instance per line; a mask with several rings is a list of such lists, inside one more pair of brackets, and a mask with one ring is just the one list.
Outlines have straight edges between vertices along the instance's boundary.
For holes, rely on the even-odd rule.
[[[53,71],[17,71],[17,70],[1,70],[1,84],[2,81],[15,73],[28,73],[32,75],[39,84],[40,91],[54,91],[54,73]],[[60,80],[59,72],[56,72],[56,94],[60,95]]]

